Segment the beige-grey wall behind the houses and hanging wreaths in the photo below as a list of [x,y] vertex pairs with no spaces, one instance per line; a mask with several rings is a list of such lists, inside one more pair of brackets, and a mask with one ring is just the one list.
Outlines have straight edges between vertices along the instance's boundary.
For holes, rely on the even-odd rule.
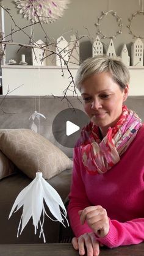
[[[68,5],[68,9],[65,10],[64,15],[59,20],[51,24],[44,24],[43,28],[45,29],[48,37],[51,40],[56,40],[60,35],[64,35],[67,40],[70,40],[70,35],[73,32],[70,32],[73,29],[74,32],[78,31],[79,36],[85,35],[81,39],[80,43],[80,54],[81,60],[86,59],[92,54],[92,40],[96,37],[96,26],[95,23],[98,20],[98,16],[101,15],[101,11],[115,10],[118,16],[122,18],[123,29],[122,34],[114,40],[115,48],[117,50],[117,55],[120,55],[121,48],[123,43],[126,43],[128,46],[129,54],[131,54],[131,44],[134,42],[134,38],[129,34],[128,28],[128,18],[131,17],[132,13],[136,10],[139,10],[141,7],[139,5],[139,0],[71,0],[71,3]],[[16,5],[12,0],[3,1],[5,7],[9,7],[10,13],[12,14],[16,24],[18,26],[27,26],[30,24],[22,15],[20,15]],[[12,23],[9,15],[5,14],[5,34],[10,34],[10,29],[15,29],[15,25]],[[134,18],[132,21],[132,30],[137,35],[143,35],[143,24],[144,16],[137,15],[137,18]],[[86,28],[86,29],[85,29]],[[101,22],[101,30],[106,35],[114,34],[117,30],[117,23],[115,18],[111,15],[108,15]],[[24,29],[27,34],[31,34],[30,28]],[[88,33],[90,38],[87,38]],[[45,41],[45,34],[42,31],[40,25],[35,25],[34,27],[34,37],[35,41],[41,38]],[[11,37],[7,37],[7,39]],[[103,39],[104,51],[106,51],[107,46],[109,45],[109,39]],[[17,32],[13,34],[13,42],[18,43],[29,43],[29,38],[24,35],[23,32]],[[21,49],[18,53],[16,46],[7,46],[7,60],[16,59],[17,62],[21,60],[21,54],[26,53],[27,62],[31,64],[31,54],[29,54],[29,49]]]

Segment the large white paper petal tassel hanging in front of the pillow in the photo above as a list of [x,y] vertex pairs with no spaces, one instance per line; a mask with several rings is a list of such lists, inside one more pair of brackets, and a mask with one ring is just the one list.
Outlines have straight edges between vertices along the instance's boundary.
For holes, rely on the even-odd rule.
[[[65,206],[63,205],[62,199],[60,198],[57,191],[52,188],[51,185],[42,177],[41,172],[36,173],[36,177],[34,180],[24,188],[18,197],[16,197],[15,203],[13,204],[12,210],[10,211],[9,218],[12,216],[13,211],[16,208],[18,211],[21,207],[23,207],[23,213],[21,215],[20,224],[18,226],[17,237],[21,232],[23,232],[24,227],[26,226],[29,219],[33,220],[33,225],[35,227],[35,234],[37,233],[38,223],[40,224],[40,236],[41,233],[43,235],[43,241],[46,243],[45,234],[43,232],[43,224],[45,220],[45,214],[48,214],[45,211],[44,200],[46,205],[49,207],[52,215],[56,220],[64,225],[64,219],[67,221],[67,211]],[[62,208],[63,213],[60,211],[60,207]],[[15,212],[16,212],[15,211]],[[43,216],[43,221],[41,223],[40,217]],[[48,216],[49,217],[49,216]],[[49,217],[50,218],[50,217]],[[51,218],[50,218],[51,219]],[[67,221],[68,224],[68,221]],[[69,224],[68,224],[69,225]],[[21,231],[20,231],[21,226]],[[65,227],[65,225],[64,225]]]

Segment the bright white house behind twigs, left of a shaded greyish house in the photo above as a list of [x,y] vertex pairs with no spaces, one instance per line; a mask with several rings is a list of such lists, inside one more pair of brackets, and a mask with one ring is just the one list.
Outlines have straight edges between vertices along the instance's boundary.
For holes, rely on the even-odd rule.
[[64,66],[65,62],[68,62],[69,53],[68,53],[68,42],[65,40],[64,37],[57,38],[57,46],[56,46],[56,53],[60,54],[62,58],[59,57],[59,55],[56,54],[56,65],[57,66]]

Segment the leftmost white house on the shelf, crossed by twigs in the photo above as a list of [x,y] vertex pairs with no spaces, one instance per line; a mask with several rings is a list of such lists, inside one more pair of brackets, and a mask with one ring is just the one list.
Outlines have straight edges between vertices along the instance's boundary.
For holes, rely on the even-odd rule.
[[[36,46],[40,46],[40,48],[45,47],[45,43],[42,40],[38,40],[36,42]],[[34,66],[46,66],[46,51],[40,48],[32,49],[32,64]]]

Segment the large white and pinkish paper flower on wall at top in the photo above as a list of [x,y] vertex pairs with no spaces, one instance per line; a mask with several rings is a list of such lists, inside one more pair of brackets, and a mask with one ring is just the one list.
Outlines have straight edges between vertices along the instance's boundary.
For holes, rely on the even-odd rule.
[[32,23],[40,20],[41,23],[52,23],[67,9],[70,0],[14,0],[16,7],[24,18]]

